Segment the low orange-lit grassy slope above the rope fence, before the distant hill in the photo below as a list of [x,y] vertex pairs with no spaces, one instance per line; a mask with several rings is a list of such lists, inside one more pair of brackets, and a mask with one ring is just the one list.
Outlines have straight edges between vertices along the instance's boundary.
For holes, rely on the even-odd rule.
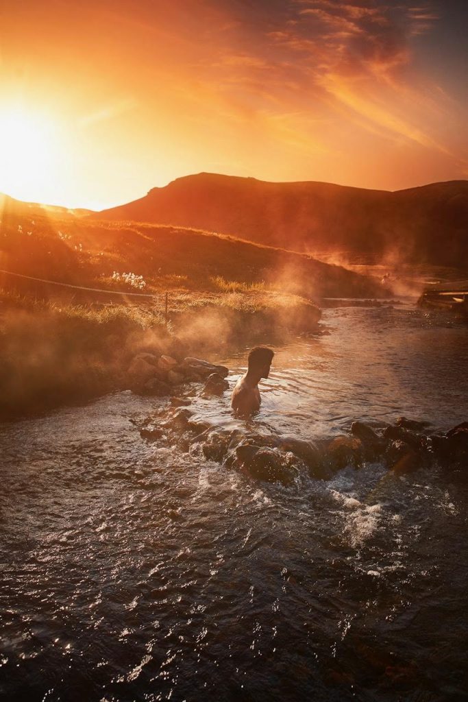
[[[364,276],[284,249],[181,227],[39,217],[24,210],[4,211],[0,269],[105,289],[122,289],[122,280],[112,274],[131,272],[143,277],[146,292],[219,292],[215,279],[222,278],[314,300],[385,296],[381,286]],[[7,282],[5,276],[1,282],[10,282],[20,293],[40,287],[24,279]],[[48,292],[53,296],[55,290]]]

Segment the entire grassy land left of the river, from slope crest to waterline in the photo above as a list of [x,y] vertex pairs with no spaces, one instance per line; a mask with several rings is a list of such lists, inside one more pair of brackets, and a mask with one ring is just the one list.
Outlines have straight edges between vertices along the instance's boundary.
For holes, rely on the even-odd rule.
[[3,418],[126,388],[138,352],[273,342],[316,330],[322,296],[385,294],[339,266],[233,237],[8,209],[0,270],[18,274],[0,272]]

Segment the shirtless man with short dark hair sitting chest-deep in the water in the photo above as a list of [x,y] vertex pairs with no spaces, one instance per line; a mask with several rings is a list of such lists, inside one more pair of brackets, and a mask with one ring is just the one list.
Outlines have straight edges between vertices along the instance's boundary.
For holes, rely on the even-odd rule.
[[250,416],[260,409],[261,378],[268,378],[274,352],[266,346],[255,346],[248,355],[248,369],[236,383],[232,392],[231,406],[240,417]]

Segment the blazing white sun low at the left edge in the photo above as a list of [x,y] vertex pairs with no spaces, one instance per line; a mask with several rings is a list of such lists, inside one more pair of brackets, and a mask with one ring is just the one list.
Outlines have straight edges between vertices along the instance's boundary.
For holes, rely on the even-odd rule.
[[55,178],[58,129],[53,120],[25,108],[0,110],[0,192],[40,201]]

